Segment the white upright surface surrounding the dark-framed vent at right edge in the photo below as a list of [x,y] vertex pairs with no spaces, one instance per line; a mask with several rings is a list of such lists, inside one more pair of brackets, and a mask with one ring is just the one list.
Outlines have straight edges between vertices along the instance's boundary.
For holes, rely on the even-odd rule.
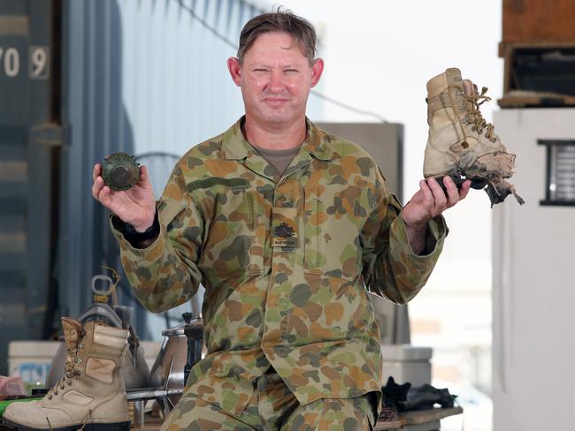
[[494,208],[494,430],[573,429],[575,207],[542,206],[546,148],[575,140],[575,109],[495,112],[525,199]]

